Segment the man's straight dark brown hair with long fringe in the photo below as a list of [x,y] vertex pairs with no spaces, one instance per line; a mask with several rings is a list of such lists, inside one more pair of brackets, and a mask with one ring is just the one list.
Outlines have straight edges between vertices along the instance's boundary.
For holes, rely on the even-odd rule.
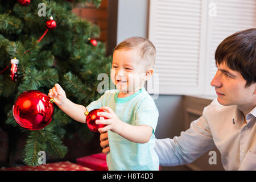
[[217,64],[226,64],[241,73],[250,86],[256,82],[256,28],[238,31],[218,45],[215,52]]

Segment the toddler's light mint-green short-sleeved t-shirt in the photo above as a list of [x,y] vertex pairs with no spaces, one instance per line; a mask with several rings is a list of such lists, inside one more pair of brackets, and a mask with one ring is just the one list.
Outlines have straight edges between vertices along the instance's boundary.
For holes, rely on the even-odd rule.
[[154,100],[144,88],[125,98],[118,98],[118,93],[119,90],[107,90],[86,109],[91,111],[108,106],[121,121],[151,126],[153,133],[147,143],[134,143],[108,130],[110,152],[106,160],[109,170],[159,170],[159,159],[154,150],[159,114]]

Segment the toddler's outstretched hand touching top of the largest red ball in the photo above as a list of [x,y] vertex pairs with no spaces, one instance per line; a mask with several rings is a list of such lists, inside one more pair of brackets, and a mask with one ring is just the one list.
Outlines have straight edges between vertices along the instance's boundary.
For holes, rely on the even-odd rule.
[[67,99],[66,93],[59,84],[55,84],[52,89],[49,90],[48,96],[54,98],[55,104],[63,105]]

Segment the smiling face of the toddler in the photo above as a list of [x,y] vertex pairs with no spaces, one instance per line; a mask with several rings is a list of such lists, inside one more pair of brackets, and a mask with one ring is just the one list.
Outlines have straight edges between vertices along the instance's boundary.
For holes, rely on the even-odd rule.
[[122,93],[135,93],[147,80],[146,64],[136,49],[119,49],[113,53],[111,80]]

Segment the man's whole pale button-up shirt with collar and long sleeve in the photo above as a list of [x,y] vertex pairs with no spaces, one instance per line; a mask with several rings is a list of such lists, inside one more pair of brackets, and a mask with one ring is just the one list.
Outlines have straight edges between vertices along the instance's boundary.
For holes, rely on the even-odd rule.
[[174,139],[158,139],[160,166],[188,164],[215,146],[225,170],[256,170],[256,107],[246,115],[237,106],[214,100],[188,130]]

